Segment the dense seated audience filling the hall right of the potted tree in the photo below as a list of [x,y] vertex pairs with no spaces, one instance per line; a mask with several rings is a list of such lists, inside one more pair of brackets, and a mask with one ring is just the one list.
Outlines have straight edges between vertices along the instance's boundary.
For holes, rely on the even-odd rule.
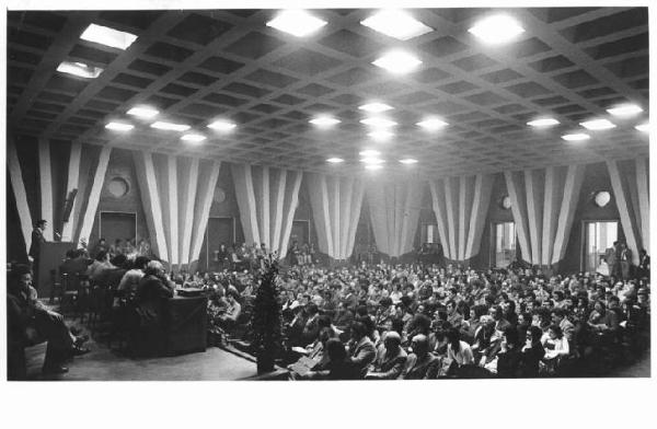
[[604,375],[648,346],[647,277],[364,264],[279,287],[295,380]]

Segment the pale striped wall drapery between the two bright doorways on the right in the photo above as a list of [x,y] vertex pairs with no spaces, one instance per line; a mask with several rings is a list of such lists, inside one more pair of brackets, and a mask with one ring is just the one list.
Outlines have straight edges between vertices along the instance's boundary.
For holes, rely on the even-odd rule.
[[585,169],[504,172],[522,259],[549,266],[564,258]]

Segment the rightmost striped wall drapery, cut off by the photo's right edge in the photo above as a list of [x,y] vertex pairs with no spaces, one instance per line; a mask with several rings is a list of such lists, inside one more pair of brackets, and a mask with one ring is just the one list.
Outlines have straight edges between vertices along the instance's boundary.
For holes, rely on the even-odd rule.
[[607,170],[632,262],[638,264],[638,251],[650,244],[649,160],[607,161]]

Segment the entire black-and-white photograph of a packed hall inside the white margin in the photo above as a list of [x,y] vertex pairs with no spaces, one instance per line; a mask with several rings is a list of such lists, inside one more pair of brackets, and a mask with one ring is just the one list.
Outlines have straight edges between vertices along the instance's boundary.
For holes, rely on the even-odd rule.
[[655,11],[600,3],[12,3],[8,386],[649,380]]

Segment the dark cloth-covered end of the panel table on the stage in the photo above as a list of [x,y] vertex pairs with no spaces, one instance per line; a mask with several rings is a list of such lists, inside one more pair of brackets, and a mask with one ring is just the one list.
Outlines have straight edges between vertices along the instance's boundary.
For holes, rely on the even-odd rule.
[[170,298],[164,303],[166,355],[205,351],[207,347],[207,297]]

